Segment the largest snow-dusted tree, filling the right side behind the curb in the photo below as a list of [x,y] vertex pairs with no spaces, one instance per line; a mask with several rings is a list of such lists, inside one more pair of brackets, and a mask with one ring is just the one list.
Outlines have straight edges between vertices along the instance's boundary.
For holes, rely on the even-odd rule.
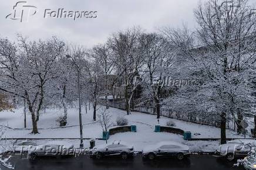
[[255,101],[252,96],[255,19],[251,18],[250,9],[244,0],[210,0],[200,4],[195,11],[200,47],[195,48],[193,36],[186,29],[165,32],[182,54],[190,58],[187,63],[190,76],[201,81],[201,85],[181,89],[179,102],[183,101],[184,107],[187,103],[189,112],[197,108],[208,115],[217,113],[222,144],[226,142],[227,119],[233,117],[241,129],[242,115],[250,112]]

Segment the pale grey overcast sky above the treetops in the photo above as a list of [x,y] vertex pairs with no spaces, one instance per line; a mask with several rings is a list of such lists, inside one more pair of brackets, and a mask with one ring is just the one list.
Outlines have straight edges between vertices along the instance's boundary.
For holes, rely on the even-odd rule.
[[[193,9],[198,5],[198,0],[25,1],[28,2],[27,5],[36,6],[37,12],[29,17],[28,22],[21,23],[19,20],[5,18],[13,13],[12,8],[18,1],[1,0],[1,37],[15,40],[16,33],[22,33],[31,39],[45,39],[54,35],[87,47],[103,43],[111,33],[134,25],[141,26],[148,32],[163,26],[180,27],[183,23],[193,28],[196,26]],[[80,18],[75,21],[68,18],[43,18],[45,9],[58,11],[59,8],[64,8],[65,11],[97,11],[97,18]]]

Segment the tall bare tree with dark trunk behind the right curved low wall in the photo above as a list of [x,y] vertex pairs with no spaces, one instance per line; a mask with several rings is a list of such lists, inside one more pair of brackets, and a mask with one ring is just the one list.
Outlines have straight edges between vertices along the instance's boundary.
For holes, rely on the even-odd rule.
[[169,74],[173,64],[171,50],[167,39],[157,33],[144,33],[140,36],[140,51],[146,65],[144,76],[149,78],[146,85],[156,107],[157,119],[160,118],[160,92],[163,91],[164,77]]

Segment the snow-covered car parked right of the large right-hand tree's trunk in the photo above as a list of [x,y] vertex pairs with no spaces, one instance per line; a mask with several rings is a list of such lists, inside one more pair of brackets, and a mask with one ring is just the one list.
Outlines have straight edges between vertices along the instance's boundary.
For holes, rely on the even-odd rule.
[[227,158],[228,161],[233,161],[234,158],[247,157],[253,145],[255,145],[255,140],[228,141],[227,144],[220,145],[215,154]]

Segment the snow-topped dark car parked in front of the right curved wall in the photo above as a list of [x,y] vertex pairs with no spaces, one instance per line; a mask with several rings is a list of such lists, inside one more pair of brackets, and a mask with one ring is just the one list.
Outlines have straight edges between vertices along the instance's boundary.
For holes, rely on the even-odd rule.
[[176,157],[182,160],[189,157],[190,151],[187,145],[173,141],[160,142],[156,145],[148,145],[142,150],[143,158],[154,159],[156,157]]

